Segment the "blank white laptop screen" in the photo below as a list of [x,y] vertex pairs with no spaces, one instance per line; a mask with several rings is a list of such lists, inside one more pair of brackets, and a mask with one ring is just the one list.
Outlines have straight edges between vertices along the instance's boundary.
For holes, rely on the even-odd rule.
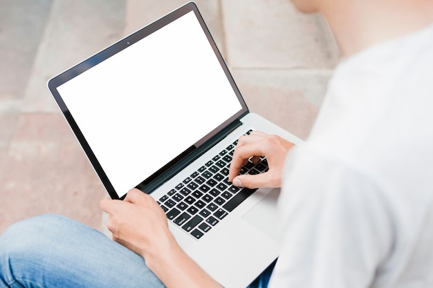
[[127,44],[57,87],[119,198],[243,109],[194,11]]

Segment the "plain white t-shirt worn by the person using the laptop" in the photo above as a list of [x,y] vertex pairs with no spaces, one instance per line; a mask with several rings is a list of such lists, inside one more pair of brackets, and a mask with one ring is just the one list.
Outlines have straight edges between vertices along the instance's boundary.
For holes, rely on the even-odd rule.
[[268,287],[433,287],[433,25],[335,69],[279,211]]

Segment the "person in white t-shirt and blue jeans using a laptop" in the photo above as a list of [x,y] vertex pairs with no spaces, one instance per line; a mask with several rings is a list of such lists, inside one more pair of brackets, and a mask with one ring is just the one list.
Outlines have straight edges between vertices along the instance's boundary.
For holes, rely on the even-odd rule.
[[[283,184],[282,255],[255,285],[433,287],[433,1],[293,2],[322,12],[344,60],[304,146],[256,132],[234,152],[234,184]],[[257,155],[269,171],[237,175]],[[100,206],[122,245],[65,218],[19,222],[0,238],[0,287],[219,287],[149,195]]]

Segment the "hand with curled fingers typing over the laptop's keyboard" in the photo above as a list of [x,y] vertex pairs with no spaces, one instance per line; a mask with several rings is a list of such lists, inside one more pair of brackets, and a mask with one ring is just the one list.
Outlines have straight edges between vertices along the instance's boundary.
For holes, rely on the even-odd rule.
[[[233,153],[232,164],[228,179],[234,186],[247,188],[279,187],[282,184],[282,171],[286,154],[293,144],[277,135],[267,135],[259,131],[252,131],[250,135],[239,138]],[[241,166],[246,165],[252,157],[257,163],[259,156],[268,160],[269,170],[257,175],[239,175]]]

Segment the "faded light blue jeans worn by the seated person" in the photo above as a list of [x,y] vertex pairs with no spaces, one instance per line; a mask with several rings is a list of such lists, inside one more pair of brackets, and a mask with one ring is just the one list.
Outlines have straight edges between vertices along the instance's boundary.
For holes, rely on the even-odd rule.
[[[272,269],[251,288],[267,286]],[[17,222],[0,237],[3,287],[164,287],[136,253],[58,215]]]

